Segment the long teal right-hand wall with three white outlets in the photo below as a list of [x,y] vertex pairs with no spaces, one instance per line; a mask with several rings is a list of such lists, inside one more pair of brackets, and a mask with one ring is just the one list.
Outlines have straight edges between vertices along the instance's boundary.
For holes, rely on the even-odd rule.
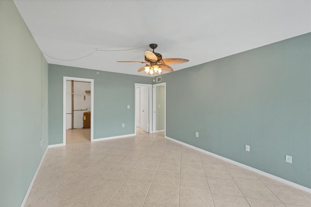
[[162,75],[166,136],[311,188],[310,59],[309,33]]

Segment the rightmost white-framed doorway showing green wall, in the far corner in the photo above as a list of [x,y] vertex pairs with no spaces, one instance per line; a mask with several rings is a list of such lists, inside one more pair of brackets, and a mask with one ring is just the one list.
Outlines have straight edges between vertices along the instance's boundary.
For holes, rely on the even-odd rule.
[[153,132],[163,132],[166,129],[166,83],[153,85]]

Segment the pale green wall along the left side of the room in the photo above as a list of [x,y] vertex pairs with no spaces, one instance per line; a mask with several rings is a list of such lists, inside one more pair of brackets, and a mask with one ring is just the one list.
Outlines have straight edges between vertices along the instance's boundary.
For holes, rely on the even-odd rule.
[[48,64],[14,1],[0,0],[0,206],[21,205],[47,148],[47,94]]

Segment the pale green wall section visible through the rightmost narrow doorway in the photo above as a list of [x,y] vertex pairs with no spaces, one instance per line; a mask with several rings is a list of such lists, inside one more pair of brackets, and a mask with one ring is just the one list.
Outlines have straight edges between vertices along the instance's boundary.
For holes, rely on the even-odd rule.
[[[160,91],[162,88],[162,92]],[[160,105],[160,108],[158,107]],[[164,130],[165,123],[165,86],[155,86],[155,130]]]

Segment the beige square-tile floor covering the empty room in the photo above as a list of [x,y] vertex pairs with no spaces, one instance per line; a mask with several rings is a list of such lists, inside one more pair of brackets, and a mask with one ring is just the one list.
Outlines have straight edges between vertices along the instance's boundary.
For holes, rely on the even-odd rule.
[[310,193],[165,139],[164,133],[138,129],[135,137],[98,142],[87,136],[72,130],[66,146],[48,150],[26,206],[311,206]]

